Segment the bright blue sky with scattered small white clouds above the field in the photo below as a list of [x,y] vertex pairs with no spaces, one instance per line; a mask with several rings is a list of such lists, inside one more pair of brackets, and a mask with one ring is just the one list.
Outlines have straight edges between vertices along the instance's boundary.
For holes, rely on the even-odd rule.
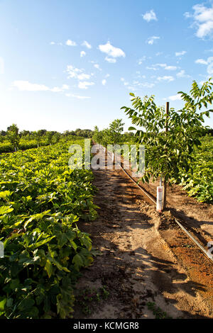
[[[213,77],[213,1],[0,0],[0,130],[108,127]],[[206,125],[213,127],[213,120]]]

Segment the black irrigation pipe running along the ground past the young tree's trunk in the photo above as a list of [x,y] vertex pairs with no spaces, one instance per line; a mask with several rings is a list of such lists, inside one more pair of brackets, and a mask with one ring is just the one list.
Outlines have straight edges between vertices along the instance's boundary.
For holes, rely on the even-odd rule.
[[[109,154],[107,152],[107,154]],[[119,166],[121,166],[121,164],[118,164]],[[124,173],[129,177],[129,179],[131,179],[131,181],[133,181],[133,183],[138,186],[138,188],[152,201],[152,203],[154,203],[156,205],[156,200],[155,198],[153,198],[151,196],[150,193],[148,193],[148,191],[146,191],[142,186],[138,185],[138,183],[130,176],[130,174],[128,174],[128,172],[126,172],[126,170],[124,169],[123,166],[121,166],[121,170],[124,171]],[[212,255],[208,254],[208,252],[206,251],[206,249],[204,249],[204,247],[202,247],[202,245],[197,242],[197,240],[190,234],[190,232],[188,232],[185,227],[183,227],[183,225],[175,218],[175,222],[179,225],[179,227],[182,229],[183,232],[185,232],[185,234],[187,235],[187,237],[189,237],[192,242],[194,242],[197,247],[200,248],[200,250],[202,251],[202,253],[204,254],[204,256],[207,257],[207,259],[209,259],[209,261],[213,264],[213,257]]]

